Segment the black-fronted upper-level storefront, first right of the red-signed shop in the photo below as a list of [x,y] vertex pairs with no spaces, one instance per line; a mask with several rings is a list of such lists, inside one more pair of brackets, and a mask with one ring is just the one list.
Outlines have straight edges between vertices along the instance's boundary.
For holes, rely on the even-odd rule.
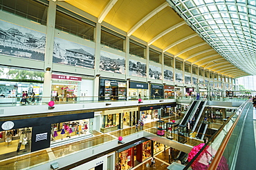
[[126,81],[100,78],[100,100],[126,100]]

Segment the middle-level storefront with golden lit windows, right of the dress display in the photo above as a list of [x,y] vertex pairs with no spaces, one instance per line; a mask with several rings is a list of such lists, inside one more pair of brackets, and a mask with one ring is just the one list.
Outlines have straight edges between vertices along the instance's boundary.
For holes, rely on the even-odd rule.
[[124,127],[134,126],[136,122],[138,122],[138,107],[105,110],[102,112],[102,127],[100,131],[103,133],[115,131]]

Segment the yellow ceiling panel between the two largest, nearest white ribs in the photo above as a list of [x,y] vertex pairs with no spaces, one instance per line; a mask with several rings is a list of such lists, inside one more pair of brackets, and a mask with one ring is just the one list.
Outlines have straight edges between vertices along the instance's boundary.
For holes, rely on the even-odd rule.
[[164,0],[119,0],[111,8],[104,21],[128,32],[138,21],[164,2]]

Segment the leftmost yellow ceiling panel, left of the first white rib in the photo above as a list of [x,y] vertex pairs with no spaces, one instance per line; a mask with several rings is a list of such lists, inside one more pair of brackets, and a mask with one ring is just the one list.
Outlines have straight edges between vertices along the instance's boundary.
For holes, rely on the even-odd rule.
[[102,10],[104,10],[105,6],[107,6],[107,3],[109,3],[109,0],[104,0],[104,1],[80,0],[80,1],[66,1],[66,3],[69,3],[72,6],[75,6],[76,8],[83,10],[95,17],[99,17]]

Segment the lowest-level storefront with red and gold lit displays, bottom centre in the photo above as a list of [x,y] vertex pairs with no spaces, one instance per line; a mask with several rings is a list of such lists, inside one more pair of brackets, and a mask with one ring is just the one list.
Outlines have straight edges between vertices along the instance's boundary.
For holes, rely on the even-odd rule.
[[143,139],[118,150],[118,170],[135,167],[152,156],[151,140]]

